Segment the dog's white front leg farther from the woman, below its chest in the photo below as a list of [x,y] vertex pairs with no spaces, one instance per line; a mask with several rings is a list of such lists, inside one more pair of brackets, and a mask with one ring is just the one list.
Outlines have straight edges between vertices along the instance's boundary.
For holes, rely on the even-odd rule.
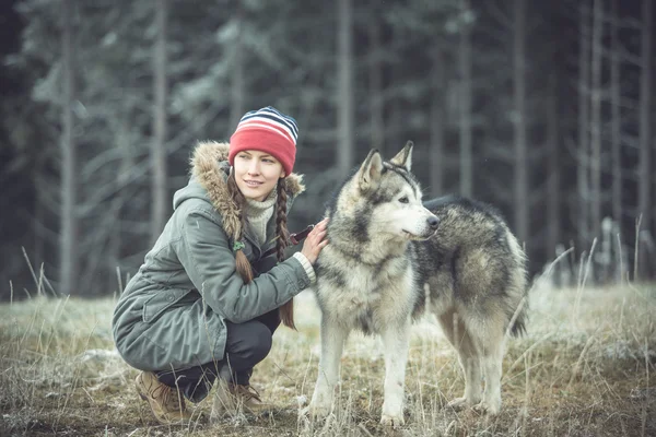
[[383,425],[396,427],[405,423],[403,386],[409,335],[410,320],[403,320],[401,323],[388,323],[382,333],[385,347],[385,401],[380,417]]

